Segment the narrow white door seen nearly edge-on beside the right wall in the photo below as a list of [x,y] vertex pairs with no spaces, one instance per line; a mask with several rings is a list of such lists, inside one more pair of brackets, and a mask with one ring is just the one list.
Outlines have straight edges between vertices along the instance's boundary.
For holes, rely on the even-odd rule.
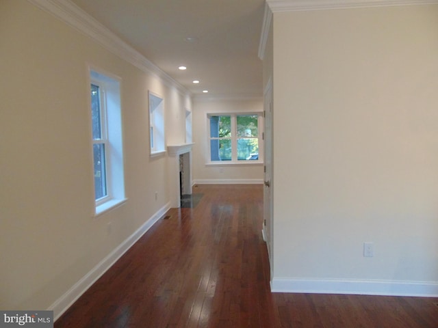
[[264,94],[265,111],[265,187],[263,189],[263,238],[268,247],[269,262],[272,276],[273,262],[273,239],[272,239],[272,85],[268,83]]

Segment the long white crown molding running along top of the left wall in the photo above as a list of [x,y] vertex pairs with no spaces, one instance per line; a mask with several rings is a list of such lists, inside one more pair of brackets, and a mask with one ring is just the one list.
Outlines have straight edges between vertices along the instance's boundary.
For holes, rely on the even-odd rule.
[[[155,75],[168,87],[175,87],[181,94],[187,95],[190,92],[172,79],[166,72],[155,66],[144,55],[133,49],[129,44],[121,40],[107,27],[99,23],[95,18],[81,10],[75,3],[69,0],[27,0],[38,8],[49,12],[56,18],[62,20],[70,27],[86,34],[108,51],[114,53],[121,59],[136,66],[140,70]],[[191,94],[190,94],[191,95]]]

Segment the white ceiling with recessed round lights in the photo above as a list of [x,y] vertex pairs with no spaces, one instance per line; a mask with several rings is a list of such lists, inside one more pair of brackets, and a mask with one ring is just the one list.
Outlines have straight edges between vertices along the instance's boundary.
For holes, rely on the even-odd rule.
[[196,97],[262,96],[264,0],[71,1]]

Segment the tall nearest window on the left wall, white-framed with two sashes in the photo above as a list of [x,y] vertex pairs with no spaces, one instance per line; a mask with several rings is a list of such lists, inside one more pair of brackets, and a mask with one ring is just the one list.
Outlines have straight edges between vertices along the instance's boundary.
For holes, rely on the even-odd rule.
[[96,214],[125,201],[120,82],[90,71]]

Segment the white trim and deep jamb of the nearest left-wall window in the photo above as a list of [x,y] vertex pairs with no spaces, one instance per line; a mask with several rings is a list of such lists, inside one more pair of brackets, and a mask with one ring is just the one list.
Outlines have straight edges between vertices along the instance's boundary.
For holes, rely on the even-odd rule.
[[[101,92],[101,129],[102,139],[105,143],[105,176],[107,184],[107,196],[94,200],[94,179],[93,179],[93,200],[94,200],[94,217],[98,217],[109,210],[112,210],[127,201],[125,197],[125,171],[123,163],[123,124],[121,113],[121,98],[120,98],[120,79],[106,72],[101,72],[95,68],[89,68],[90,81],[88,83],[88,94],[90,95],[90,85],[98,85]],[[110,95],[110,92],[112,93]],[[111,105],[108,98],[111,98]],[[89,99],[91,106],[91,96]],[[111,109],[109,108],[112,107]],[[109,113],[111,111],[111,113]],[[111,122],[110,122],[111,121]],[[115,124],[115,128],[109,125]],[[90,126],[92,126],[92,118],[90,117]],[[92,128],[90,129],[92,131]],[[98,141],[99,142],[99,141]],[[92,145],[95,143],[92,138]],[[116,149],[118,159],[113,158],[113,150]],[[120,155],[121,154],[121,155]],[[115,154],[114,154],[115,156]],[[92,176],[94,176],[94,169]]]

